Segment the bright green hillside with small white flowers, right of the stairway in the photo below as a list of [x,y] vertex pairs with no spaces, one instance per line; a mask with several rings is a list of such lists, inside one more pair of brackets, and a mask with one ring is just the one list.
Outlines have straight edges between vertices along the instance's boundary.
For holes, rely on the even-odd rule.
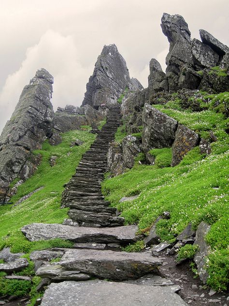
[[[221,94],[222,96],[222,94]],[[212,100],[200,112],[183,109],[180,101],[155,105],[162,112],[209,139],[210,131],[217,137],[209,156],[194,148],[176,167],[168,167],[170,149],[152,150],[154,166],[139,165],[123,175],[106,179],[103,193],[126,218],[127,224],[139,223],[147,232],[157,216],[171,212],[169,220],[158,222],[157,232],[163,241],[174,241],[189,222],[196,229],[203,220],[212,225],[206,240],[212,247],[208,261],[208,284],[216,290],[226,290],[229,284],[229,120],[221,109],[214,109]],[[224,94],[222,104],[229,97]],[[218,98],[218,97],[217,97]],[[228,103],[228,102],[227,102]],[[137,159],[143,159],[143,153]],[[140,195],[133,201],[119,203],[124,196]]]

